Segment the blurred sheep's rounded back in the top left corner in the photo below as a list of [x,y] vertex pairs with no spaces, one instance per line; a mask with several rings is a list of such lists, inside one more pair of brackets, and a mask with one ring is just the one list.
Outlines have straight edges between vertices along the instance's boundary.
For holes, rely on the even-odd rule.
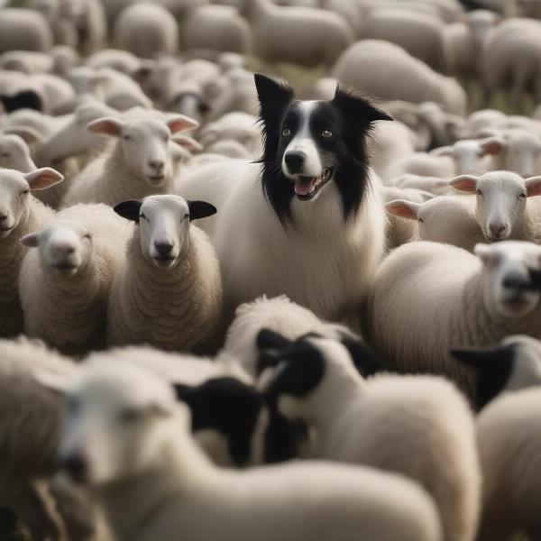
[[52,48],[52,33],[41,14],[29,9],[2,8],[0,11],[0,52]]

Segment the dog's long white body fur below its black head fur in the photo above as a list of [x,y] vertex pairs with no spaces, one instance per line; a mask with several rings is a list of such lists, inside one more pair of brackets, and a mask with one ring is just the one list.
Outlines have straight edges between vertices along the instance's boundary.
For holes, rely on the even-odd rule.
[[260,166],[230,160],[179,179],[176,192],[203,199],[218,213],[201,222],[224,279],[225,315],[262,294],[288,295],[317,316],[338,319],[363,297],[383,250],[379,182],[371,174],[359,213],[344,224],[333,182],[311,201],[291,201],[295,228],[284,228],[264,199]]

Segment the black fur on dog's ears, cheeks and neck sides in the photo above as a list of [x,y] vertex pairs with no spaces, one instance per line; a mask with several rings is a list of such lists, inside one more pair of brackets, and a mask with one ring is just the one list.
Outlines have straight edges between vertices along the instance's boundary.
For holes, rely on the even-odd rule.
[[[263,154],[258,160],[262,164],[262,188],[280,221],[285,223],[291,220],[290,203],[295,190],[281,169],[281,161],[290,137],[294,137],[298,129],[302,111],[288,83],[256,74],[255,86],[263,134]],[[378,120],[392,120],[392,117],[340,86],[336,87],[335,97],[319,102],[311,115],[310,132],[322,162],[335,171],[332,181],[340,192],[344,220],[355,215],[369,185],[367,141],[372,123]],[[281,132],[286,126],[292,135],[284,141]],[[324,130],[330,130],[334,136],[323,138]]]

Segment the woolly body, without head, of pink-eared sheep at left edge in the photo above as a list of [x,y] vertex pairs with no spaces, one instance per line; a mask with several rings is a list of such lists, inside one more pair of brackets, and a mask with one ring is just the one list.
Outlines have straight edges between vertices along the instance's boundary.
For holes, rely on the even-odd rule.
[[23,331],[23,309],[17,285],[27,249],[19,239],[40,229],[53,217],[52,208],[29,196],[19,224],[9,236],[0,240],[0,336],[13,336]]

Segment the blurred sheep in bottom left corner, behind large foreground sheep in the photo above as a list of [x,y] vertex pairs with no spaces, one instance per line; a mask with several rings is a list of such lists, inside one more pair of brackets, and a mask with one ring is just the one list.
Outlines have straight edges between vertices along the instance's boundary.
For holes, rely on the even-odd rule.
[[66,534],[109,539],[96,530],[103,524],[90,500],[84,494],[74,497],[51,479],[57,471],[62,390],[75,372],[73,362],[39,341],[0,340],[0,506],[14,509],[32,539]]

